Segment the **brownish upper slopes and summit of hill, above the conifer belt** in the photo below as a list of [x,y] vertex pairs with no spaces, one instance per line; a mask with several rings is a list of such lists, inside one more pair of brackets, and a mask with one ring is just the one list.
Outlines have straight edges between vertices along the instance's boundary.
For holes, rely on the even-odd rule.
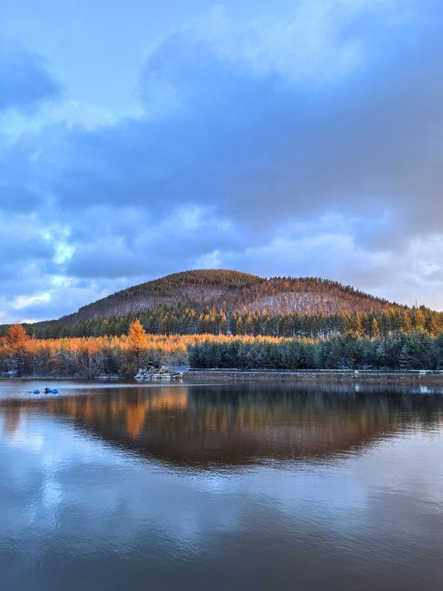
[[392,307],[386,300],[325,279],[262,279],[237,271],[198,270],[134,285],[83,306],[61,320],[70,323],[94,317],[122,316],[161,305],[188,306],[197,311],[208,307],[226,313],[244,308],[260,313],[266,310],[270,314],[323,310],[326,315],[344,310],[361,313]]

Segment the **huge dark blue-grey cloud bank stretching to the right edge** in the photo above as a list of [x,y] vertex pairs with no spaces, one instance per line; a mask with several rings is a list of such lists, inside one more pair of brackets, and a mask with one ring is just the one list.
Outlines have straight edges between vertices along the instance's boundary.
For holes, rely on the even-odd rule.
[[[406,226],[420,233],[431,223],[437,231],[443,92],[432,55],[440,45],[428,42],[417,56],[404,43],[395,67],[375,60],[363,78],[318,94],[275,76],[247,76],[210,46],[172,35],[144,76],[179,89],[179,106],[161,121],[73,134],[55,198],[69,208],[131,204],[150,213],[210,203],[254,231],[264,216],[269,224],[325,209],[361,217],[396,209],[386,242],[403,240]],[[419,89],[429,83],[427,96]]]

